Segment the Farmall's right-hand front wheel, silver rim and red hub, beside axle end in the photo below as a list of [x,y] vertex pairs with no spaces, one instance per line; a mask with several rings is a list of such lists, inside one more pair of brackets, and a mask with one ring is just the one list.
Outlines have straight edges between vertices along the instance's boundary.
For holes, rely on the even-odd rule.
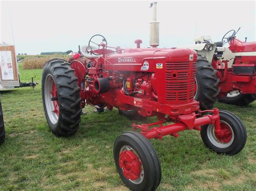
[[246,129],[241,119],[232,112],[220,110],[221,136],[214,132],[214,125],[204,125],[201,138],[204,144],[219,154],[234,155],[244,148],[246,143]]

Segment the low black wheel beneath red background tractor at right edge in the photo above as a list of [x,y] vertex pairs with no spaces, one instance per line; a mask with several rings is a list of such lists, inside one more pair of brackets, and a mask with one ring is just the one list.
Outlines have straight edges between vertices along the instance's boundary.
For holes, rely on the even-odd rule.
[[239,90],[228,93],[225,97],[219,97],[219,102],[232,105],[248,105],[256,100],[256,94],[241,94]]

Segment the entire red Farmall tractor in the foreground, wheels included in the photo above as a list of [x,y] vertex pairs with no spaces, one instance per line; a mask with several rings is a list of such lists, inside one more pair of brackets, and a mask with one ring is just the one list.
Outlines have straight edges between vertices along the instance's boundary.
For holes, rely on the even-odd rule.
[[42,96],[50,130],[58,137],[73,135],[85,105],[157,116],[154,123],[133,124],[134,131],[123,133],[114,143],[117,171],[132,190],[154,190],[160,183],[161,166],[149,139],[198,130],[213,151],[239,153],[246,143],[241,120],[217,108],[201,111],[194,100],[196,51],[140,48],[142,41],[136,43],[137,48],[110,47],[103,36],[95,35],[69,62],[45,63]]

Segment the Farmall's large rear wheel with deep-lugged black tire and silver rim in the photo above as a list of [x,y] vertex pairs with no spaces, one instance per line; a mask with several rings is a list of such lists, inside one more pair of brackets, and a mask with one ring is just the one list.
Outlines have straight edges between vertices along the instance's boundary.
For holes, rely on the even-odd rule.
[[50,130],[58,137],[73,135],[79,128],[82,108],[77,77],[70,63],[62,59],[45,63],[42,97]]

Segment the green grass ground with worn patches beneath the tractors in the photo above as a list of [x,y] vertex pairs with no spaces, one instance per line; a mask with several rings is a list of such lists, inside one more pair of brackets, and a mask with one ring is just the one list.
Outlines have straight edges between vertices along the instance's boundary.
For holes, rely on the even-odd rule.
[[[132,121],[118,111],[102,114],[86,107],[75,136],[57,138],[49,130],[41,97],[42,69],[22,70],[21,80],[36,75],[39,85],[3,91],[6,141],[0,146],[0,189],[125,190],[113,161],[113,143]],[[208,150],[198,131],[179,138],[151,140],[162,166],[159,190],[256,188],[256,102],[247,107],[215,105],[234,112],[247,128],[247,143],[234,156]],[[153,121],[153,119],[147,119]],[[140,123],[140,122],[139,122]]]

